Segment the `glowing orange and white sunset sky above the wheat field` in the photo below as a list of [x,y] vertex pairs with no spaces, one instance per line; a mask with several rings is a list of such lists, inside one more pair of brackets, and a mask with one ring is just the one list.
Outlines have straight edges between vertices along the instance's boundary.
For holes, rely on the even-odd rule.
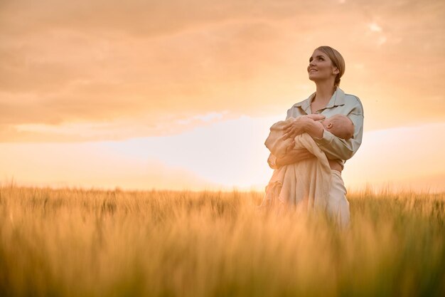
[[318,46],[365,110],[348,189],[445,191],[443,1],[0,1],[0,182],[264,189]]

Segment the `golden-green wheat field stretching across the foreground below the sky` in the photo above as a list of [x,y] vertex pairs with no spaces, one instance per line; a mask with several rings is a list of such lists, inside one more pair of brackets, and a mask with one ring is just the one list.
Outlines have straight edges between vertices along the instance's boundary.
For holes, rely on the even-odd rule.
[[444,296],[445,193],[348,193],[351,224],[259,192],[0,187],[0,296]]

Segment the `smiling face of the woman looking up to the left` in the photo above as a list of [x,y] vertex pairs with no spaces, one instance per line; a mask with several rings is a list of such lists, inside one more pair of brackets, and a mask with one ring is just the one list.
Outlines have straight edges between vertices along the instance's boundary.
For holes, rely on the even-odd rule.
[[335,80],[338,69],[332,65],[331,59],[322,51],[315,50],[309,58],[308,66],[309,79],[313,81]]

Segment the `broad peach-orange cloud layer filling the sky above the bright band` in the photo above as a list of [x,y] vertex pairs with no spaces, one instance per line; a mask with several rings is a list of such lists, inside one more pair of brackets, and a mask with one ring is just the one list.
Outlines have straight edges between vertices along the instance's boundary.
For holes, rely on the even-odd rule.
[[209,113],[284,114],[312,92],[307,57],[321,44],[346,58],[342,87],[363,98],[372,118],[387,117],[367,127],[445,112],[445,61],[436,54],[444,49],[437,38],[444,4],[437,1],[0,5],[3,142],[126,139],[181,132],[166,124]]

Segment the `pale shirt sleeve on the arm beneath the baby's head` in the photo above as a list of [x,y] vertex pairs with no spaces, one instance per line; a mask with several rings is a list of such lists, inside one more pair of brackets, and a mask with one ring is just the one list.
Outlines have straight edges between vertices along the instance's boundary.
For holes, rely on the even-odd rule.
[[323,130],[322,138],[313,138],[318,147],[326,153],[328,159],[348,160],[353,157],[358,147],[362,144],[364,116],[360,101],[358,101],[357,105],[354,106],[353,110],[351,110],[347,116],[354,124],[354,136],[349,140],[336,137],[336,135],[326,130]]

